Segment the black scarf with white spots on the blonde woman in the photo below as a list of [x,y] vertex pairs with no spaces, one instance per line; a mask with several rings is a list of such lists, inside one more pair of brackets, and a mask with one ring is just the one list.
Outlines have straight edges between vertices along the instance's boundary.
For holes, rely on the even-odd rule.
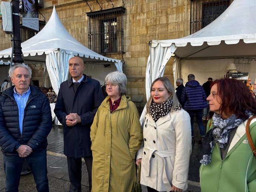
[[[170,97],[163,103],[157,105],[157,103],[155,103],[153,100],[150,104],[150,115],[152,116],[154,122],[157,122],[157,120],[160,117],[165,116],[170,110],[171,107],[173,106],[173,99],[171,99]],[[180,104],[177,105],[177,107],[175,107],[175,111],[180,110],[181,106]]]

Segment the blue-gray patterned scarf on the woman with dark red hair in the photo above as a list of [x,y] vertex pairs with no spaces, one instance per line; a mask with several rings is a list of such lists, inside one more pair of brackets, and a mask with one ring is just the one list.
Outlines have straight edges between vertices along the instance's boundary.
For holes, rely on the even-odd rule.
[[[247,115],[252,115],[252,112],[246,111]],[[210,129],[203,140],[201,151],[197,154],[200,163],[207,165],[211,162],[211,153],[218,143],[220,148],[226,148],[229,143],[229,132],[239,126],[246,119],[237,119],[236,115],[232,115],[228,119],[222,119],[220,114],[213,115],[213,128]]]

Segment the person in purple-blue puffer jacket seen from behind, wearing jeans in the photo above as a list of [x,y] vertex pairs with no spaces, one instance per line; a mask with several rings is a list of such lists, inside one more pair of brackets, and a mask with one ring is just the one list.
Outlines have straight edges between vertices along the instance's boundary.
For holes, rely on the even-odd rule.
[[190,116],[192,142],[194,142],[193,124],[194,116],[196,115],[196,121],[201,135],[199,144],[202,144],[202,138],[204,137],[202,109],[207,107],[206,93],[204,92],[204,88],[199,85],[199,82],[195,80],[195,76],[193,74],[188,75],[188,82],[182,90],[181,105]]

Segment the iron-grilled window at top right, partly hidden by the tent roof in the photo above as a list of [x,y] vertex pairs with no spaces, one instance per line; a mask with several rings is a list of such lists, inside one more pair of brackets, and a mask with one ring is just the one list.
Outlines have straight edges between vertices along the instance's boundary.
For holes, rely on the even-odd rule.
[[190,34],[210,24],[223,13],[233,0],[191,0]]

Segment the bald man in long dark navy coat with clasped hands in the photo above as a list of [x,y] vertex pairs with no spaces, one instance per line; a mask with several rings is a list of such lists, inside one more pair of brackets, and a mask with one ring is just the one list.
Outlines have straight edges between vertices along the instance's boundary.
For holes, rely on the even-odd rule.
[[70,79],[60,84],[54,112],[63,125],[64,154],[68,160],[70,192],[81,192],[82,158],[92,188],[92,151],[90,131],[93,118],[103,101],[101,85],[83,74],[80,57],[69,59]]

